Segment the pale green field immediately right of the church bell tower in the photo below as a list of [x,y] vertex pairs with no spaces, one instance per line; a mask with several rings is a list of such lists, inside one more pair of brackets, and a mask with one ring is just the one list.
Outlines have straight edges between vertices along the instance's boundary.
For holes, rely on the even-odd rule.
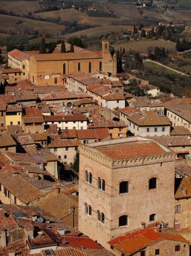
[[136,51],[138,53],[148,53],[149,51],[155,49],[155,46],[165,47],[169,53],[176,52],[176,44],[174,42],[165,40],[145,39],[132,42],[116,43],[112,46],[114,46],[115,49],[119,49],[121,46],[122,48],[126,49],[126,51],[131,49],[132,51]]

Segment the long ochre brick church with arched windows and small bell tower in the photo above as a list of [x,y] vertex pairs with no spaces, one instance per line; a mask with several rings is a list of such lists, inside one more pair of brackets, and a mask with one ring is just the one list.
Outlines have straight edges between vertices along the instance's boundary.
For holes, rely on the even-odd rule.
[[63,84],[70,73],[103,71],[116,74],[116,55],[112,57],[108,40],[102,42],[102,51],[80,53],[34,54],[30,57],[30,82],[36,85]]

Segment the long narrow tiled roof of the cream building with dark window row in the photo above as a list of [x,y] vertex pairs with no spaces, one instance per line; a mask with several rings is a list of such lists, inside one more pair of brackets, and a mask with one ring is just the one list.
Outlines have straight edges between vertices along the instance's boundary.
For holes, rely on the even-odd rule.
[[54,115],[44,116],[44,122],[58,122],[58,121],[87,121],[85,115]]

